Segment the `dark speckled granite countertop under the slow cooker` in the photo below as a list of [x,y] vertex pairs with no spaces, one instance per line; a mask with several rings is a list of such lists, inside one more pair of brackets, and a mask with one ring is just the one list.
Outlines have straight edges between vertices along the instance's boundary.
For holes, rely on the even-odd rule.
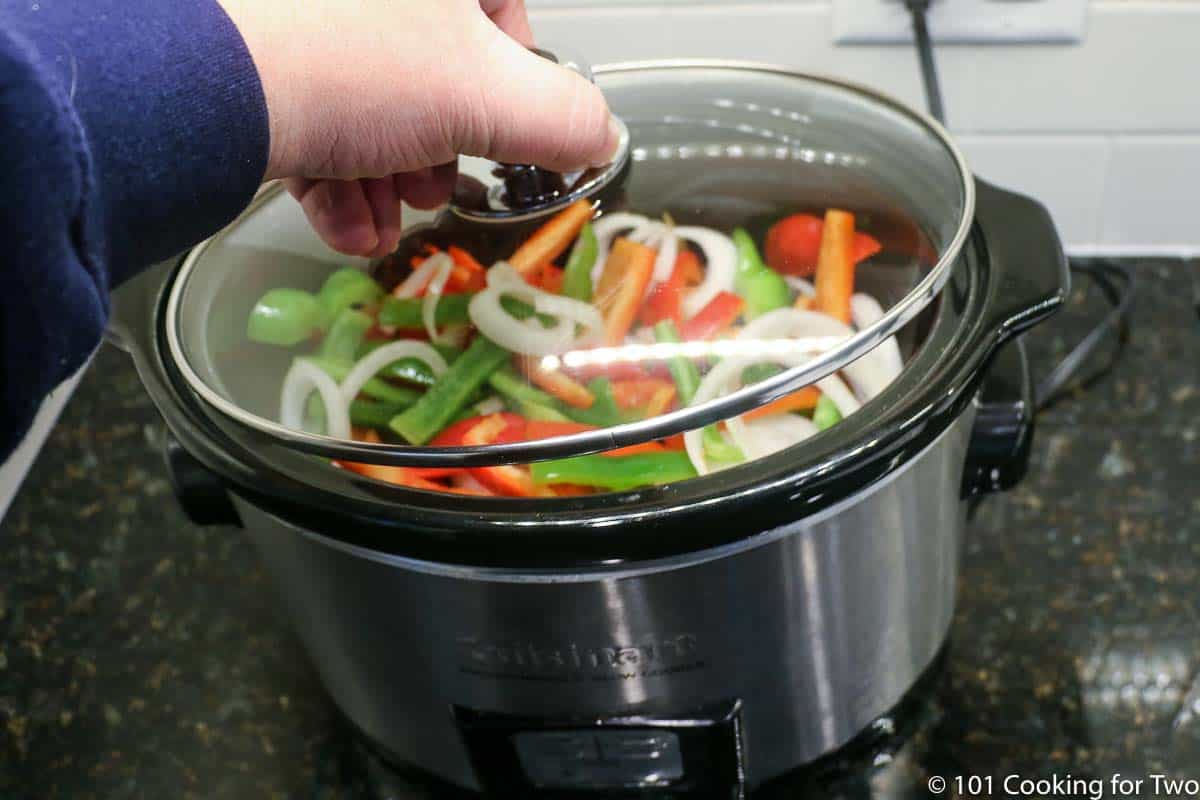
[[[972,522],[923,699],[878,750],[770,796],[925,796],[935,774],[1200,777],[1200,276],[1138,273],[1116,371],[1042,417],[1028,477]],[[1102,309],[1078,281],[1030,337],[1036,372]],[[103,349],[0,524],[0,798],[432,796],[383,788],[250,543],[184,518],[162,437],[127,357]]]

